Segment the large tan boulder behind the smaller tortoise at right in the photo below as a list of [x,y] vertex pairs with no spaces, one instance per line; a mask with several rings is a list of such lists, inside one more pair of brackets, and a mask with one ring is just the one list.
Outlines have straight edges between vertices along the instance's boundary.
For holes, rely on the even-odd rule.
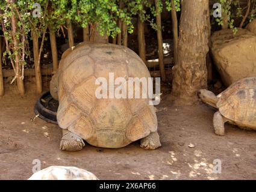
[[231,29],[214,32],[211,53],[223,83],[256,76],[256,35],[246,29],[233,34]]

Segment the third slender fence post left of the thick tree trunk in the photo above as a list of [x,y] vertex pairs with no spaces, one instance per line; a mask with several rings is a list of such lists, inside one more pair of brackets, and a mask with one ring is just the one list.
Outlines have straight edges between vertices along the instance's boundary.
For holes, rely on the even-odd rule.
[[145,34],[144,34],[144,22],[140,20],[138,16],[138,43],[139,43],[139,55],[142,61],[146,63],[146,45],[145,45]]

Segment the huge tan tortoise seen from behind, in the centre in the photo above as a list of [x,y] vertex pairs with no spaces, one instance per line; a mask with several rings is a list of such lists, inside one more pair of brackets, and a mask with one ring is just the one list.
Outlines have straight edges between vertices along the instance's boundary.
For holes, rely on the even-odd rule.
[[[109,73],[126,80],[150,77],[142,59],[124,46],[81,43],[63,53],[58,78],[52,79],[50,88],[60,104],[61,150],[78,151],[84,146],[83,140],[102,148],[121,148],[139,139],[145,149],[161,146],[157,116],[149,98],[95,96],[99,86],[95,85],[96,78],[108,80]],[[142,91],[142,85],[139,89]]]

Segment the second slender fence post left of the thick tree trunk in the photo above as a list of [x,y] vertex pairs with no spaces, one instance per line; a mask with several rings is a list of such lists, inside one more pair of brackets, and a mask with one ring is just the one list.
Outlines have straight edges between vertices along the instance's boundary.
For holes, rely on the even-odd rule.
[[164,71],[164,53],[163,53],[163,37],[162,37],[162,29],[161,29],[161,13],[158,8],[158,1],[155,0],[155,10],[157,11],[157,41],[158,41],[158,58],[159,58],[159,67],[161,73],[161,80],[163,82],[166,80],[166,74]]

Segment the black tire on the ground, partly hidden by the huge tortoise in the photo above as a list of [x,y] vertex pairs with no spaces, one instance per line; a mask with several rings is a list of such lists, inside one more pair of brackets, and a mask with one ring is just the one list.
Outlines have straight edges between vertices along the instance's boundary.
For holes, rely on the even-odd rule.
[[[39,99],[37,100],[35,106],[34,106],[34,112],[36,115],[39,115],[39,117],[46,122],[51,122],[52,124],[57,124],[57,112],[54,112],[52,110],[47,109],[45,106],[42,104],[42,100],[44,98],[51,99],[52,96],[50,92],[44,92],[42,95],[40,95]],[[52,98],[53,99],[53,98]]]

